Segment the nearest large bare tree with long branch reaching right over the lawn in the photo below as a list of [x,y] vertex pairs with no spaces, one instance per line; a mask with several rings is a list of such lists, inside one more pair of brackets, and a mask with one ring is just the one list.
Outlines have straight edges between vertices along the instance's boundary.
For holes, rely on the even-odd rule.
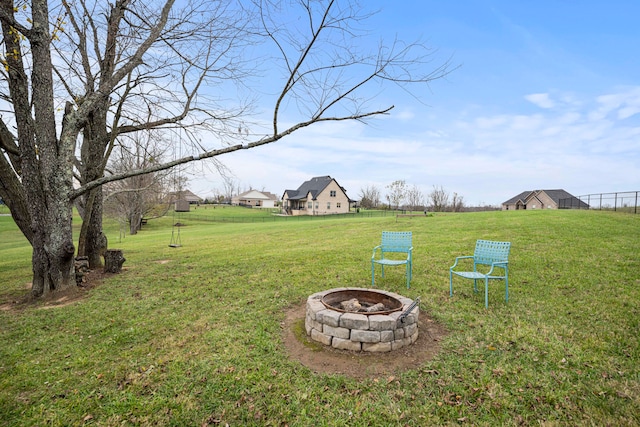
[[[222,0],[194,0],[179,8],[174,0],[78,0],[50,9],[47,0],[34,0],[27,10],[11,0],[0,2],[0,45],[6,52],[0,99],[7,102],[0,118],[0,197],[32,245],[34,296],[75,285],[71,218],[78,198],[96,200],[96,190],[109,182],[270,144],[316,123],[388,114],[393,106],[373,106],[363,88],[428,84],[450,70],[448,62],[432,68],[433,52],[420,43],[396,41],[366,52],[357,44],[358,26],[369,15],[351,4],[297,4],[304,19],[285,22],[293,11],[277,2],[256,2],[251,9]],[[223,22],[256,24],[275,47],[275,57],[258,58],[270,72],[282,72],[270,79],[279,89],[268,132],[231,136],[230,124],[247,110],[228,102],[217,108],[198,104],[214,101],[202,91],[205,84],[229,76],[242,82],[243,74],[229,74],[226,65],[256,62],[247,51],[237,54],[253,42],[256,28],[212,27],[228,17],[216,10],[243,18]],[[75,47],[80,53],[74,54]],[[82,51],[95,56],[85,58]],[[158,77],[155,86],[151,76]],[[152,102],[158,88],[166,90]],[[212,145],[192,139],[192,150],[177,159],[104,173],[118,135],[177,125],[220,132]],[[90,202],[85,201],[85,220],[93,215]]]

